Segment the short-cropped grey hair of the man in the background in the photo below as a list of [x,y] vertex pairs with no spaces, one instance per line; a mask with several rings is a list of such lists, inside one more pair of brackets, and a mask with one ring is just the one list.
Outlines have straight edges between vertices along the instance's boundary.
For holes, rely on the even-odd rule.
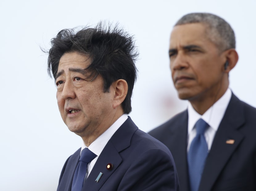
[[236,48],[235,33],[229,23],[217,15],[210,13],[190,13],[176,22],[177,25],[202,23],[206,26],[206,35],[220,51]]

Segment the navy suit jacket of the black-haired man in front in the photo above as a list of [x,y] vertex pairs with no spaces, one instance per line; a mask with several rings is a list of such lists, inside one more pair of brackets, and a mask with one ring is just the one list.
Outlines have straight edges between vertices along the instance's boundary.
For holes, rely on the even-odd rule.
[[[58,191],[70,191],[80,158],[78,149],[60,175]],[[113,164],[107,170],[107,164]],[[103,173],[98,182],[96,178]],[[130,117],[114,133],[99,155],[82,191],[167,191],[179,190],[177,171],[170,150],[140,131]]]

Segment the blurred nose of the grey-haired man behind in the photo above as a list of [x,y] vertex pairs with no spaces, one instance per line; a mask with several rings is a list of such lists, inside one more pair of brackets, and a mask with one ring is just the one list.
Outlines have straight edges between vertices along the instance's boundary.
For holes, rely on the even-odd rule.
[[175,57],[170,58],[171,70],[182,70],[187,67],[188,67],[188,61],[186,59],[186,56],[183,53],[178,52]]

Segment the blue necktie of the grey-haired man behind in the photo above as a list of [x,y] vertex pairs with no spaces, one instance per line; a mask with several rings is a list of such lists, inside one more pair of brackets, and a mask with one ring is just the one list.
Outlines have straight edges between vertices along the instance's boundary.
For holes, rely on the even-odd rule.
[[204,162],[208,155],[208,146],[204,138],[204,131],[209,125],[199,119],[196,124],[196,137],[192,140],[188,151],[188,172],[191,191],[198,191]]

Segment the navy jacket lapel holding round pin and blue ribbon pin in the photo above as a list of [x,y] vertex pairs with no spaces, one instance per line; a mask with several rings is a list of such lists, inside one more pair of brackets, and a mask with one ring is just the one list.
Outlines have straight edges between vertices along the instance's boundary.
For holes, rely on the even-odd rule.
[[[130,117],[122,124],[121,127],[114,133],[102,150],[97,162],[95,163],[89,177],[85,181],[82,191],[85,190],[100,190],[102,185],[107,181],[109,176],[118,168],[122,162],[122,158],[119,154],[122,150],[130,146],[130,140],[134,132],[138,127],[132,122]],[[122,141],[120,141],[122,140]],[[107,170],[107,164],[113,165],[112,170]],[[103,173],[98,182],[96,178],[99,173]]]

